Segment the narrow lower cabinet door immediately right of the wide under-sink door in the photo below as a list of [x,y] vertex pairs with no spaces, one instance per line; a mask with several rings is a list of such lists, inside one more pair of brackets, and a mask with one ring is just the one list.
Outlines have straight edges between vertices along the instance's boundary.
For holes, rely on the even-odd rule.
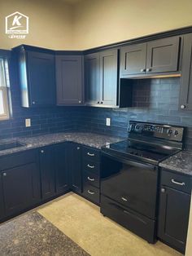
[[40,149],[41,196],[47,199],[55,195],[55,166],[53,147]]

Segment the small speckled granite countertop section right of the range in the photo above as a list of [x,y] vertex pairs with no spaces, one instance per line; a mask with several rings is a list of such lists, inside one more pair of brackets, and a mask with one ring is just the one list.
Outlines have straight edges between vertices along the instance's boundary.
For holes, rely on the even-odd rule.
[[159,166],[192,176],[192,151],[181,151],[162,161]]

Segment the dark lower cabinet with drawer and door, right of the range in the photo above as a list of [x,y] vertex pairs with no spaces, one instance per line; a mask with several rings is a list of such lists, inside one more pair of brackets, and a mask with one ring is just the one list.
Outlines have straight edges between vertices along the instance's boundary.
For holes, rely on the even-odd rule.
[[162,171],[158,236],[173,248],[185,252],[190,214],[191,179]]

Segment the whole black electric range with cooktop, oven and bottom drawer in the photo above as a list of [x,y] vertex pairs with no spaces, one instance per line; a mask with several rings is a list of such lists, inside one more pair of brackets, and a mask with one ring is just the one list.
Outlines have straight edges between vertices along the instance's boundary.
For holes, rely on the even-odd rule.
[[155,243],[159,162],[183,147],[184,128],[130,121],[129,136],[102,148],[101,213]]

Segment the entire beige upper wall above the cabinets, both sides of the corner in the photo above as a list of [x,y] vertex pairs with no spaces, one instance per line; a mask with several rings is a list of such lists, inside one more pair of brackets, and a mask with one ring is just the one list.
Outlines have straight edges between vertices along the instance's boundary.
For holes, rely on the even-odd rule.
[[[0,0],[0,48],[87,49],[192,25],[191,10],[191,0]],[[4,32],[15,11],[29,16],[26,40]]]

